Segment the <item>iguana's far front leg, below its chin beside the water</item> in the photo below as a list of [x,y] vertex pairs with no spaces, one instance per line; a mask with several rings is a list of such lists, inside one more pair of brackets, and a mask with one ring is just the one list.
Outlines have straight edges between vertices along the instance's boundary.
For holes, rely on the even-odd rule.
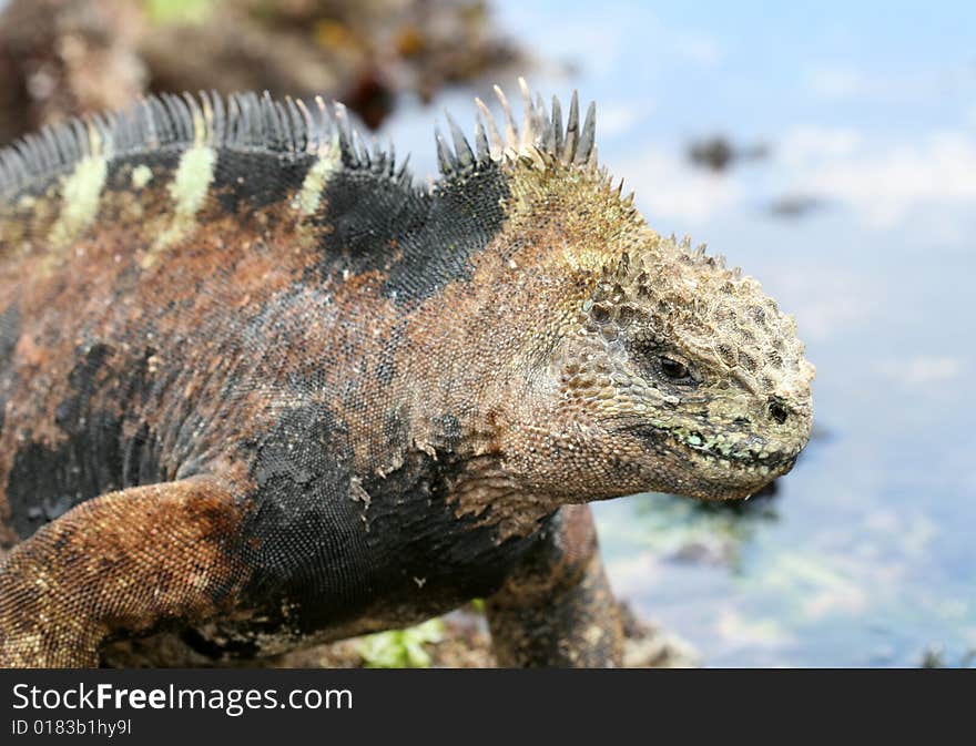
[[487,603],[501,666],[606,667],[623,635],[587,505],[561,508]]

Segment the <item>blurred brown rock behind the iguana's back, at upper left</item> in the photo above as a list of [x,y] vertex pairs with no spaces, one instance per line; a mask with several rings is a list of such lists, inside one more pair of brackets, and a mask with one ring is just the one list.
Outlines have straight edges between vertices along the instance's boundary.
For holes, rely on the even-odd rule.
[[321,94],[376,127],[397,93],[522,63],[479,0],[10,0],[0,143],[149,91]]

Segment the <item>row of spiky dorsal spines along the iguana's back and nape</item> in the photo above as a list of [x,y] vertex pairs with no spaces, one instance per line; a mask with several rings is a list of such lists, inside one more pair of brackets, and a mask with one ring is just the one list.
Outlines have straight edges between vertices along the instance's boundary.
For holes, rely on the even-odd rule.
[[[438,164],[445,176],[518,161],[596,167],[596,105],[590,103],[580,124],[579,99],[573,92],[563,126],[558,99],[553,96],[551,109],[547,110],[541,95],[532,99],[523,79],[519,79],[519,89],[523,109],[520,125],[516,125],[511,106],[499,86],[495,86],[495,93],[501,105],[500,126],[485,102],[476,99],[480,114],[474,147],[448,115],[451,144],[436,132]],[[148,96],[130,110],[49,125],[0,150],[0,194],[44,182],[91,155],[125,157],[192,145],[287,160],[337,147],[347,168],[368,170],[404,185],[411,181],[407,171],[409,159],[397,166],[392,145],[388,150],[375,142],[372,149],[367,146],[340,103],[327,104],[317,96],[309,106],[298,99],[275,101],[268,93],[232,94],[226,101],[207,92],[197,96],[164,93]]]

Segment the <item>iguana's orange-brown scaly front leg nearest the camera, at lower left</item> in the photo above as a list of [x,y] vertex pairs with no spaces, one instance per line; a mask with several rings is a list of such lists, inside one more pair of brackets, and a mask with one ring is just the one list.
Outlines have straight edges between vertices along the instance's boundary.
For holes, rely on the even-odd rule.
[[83,502],[0,565],[0,666],[95,666],[116,631],[204,620],[246,572],[234,551],[242,509],[212,477]]

